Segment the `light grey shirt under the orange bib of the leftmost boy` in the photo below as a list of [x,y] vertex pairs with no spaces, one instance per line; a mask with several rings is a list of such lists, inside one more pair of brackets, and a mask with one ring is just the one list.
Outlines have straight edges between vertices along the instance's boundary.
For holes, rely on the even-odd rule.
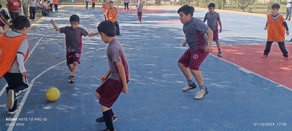
[[[13,31],[8,31],[8,32],[5,33],[5,35],[7,37],[23,36],[23,34],[20,34],[18,32],[13,32]],[[25,39],[20,43],[20,46],[19,46],[19,48],[17,50],[17,53],[24,56],[27,53],[27,50],[28,50],[28,39]],[[15,57],[12,65],[11,65],[11,69],[8,72],[10,72],[10,73],[21,73],[20,70],[19,70],[19,64],[18,64],[18,61],[17,61],[17,57]]]

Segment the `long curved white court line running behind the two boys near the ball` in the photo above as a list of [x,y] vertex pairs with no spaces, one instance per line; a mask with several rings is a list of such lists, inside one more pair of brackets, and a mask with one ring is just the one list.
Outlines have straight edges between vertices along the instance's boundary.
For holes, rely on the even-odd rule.
[[[166,37],[166,38],[173,38],[173,37]],[[165,38],[157,38],[157,39],[165,39]],[[144,40],[144,41],[148,41],[148,40],[153,40],[153,39],[146,39],[146,40]],[[140,40],[140,41],[143,41],[143,40]],[[138,42],[138,41],[132,41],[132,42],[127,42],[127,43],[133,43],[133,42]],[[127,43],[123,43],[122,45],[127,44]],[[97,49],[97,50],[102,50],[102,49],[106,49],[106,48],[107,48],[107,47],[105,47],[105,48],[100,48],[100,49]],[[94,51],[97,51],[97,50],[92,50],[92,51],[89,51],[89,52],[84,53],[84,54],[81,54],[81,55],[85,55],[85,54],[88,54],[88,53],[91,53],[91,52],[94,52]],[[20,109],[20,110],[19,110],[17,113],[15,113],[15,115],[14,115],[14,117],[13,117],[14,119],[16,119],[16,120],[18,119],[18,116],[19,116],[19,114],[20,114],[20,112],[21,112],[21,110],[22,110],[23,105],[25,104],[25,101],[26,101],[26,99],[27,99],[27,96],[29,95],[29,92],[30,92],[31,87],[32,87],[33,84],[34,84],[34,81],[35,81],[37,78],[39,78],[42,74],[46,73],[47,71],[49,71],[49,70],[55,68],[56,66],[58,66],[58,65],[60,65],[60,64],[62,64],[62,63],[64,63],[64,62],[66,62],[66,60],[64,60],[64,61],[62,61],[62,62],[60,62],[60,63],[58,63],[58,64],[55,64],[54,66],[52,66],[52,67],[46,69],[45,71],[41,72],[41,74],[37,75],[35,78],[32,79],[32,81],[29,83],[29,88],[28,88],[28,90],[25,92],[25,95],[23,96],[23,98],[22,98],[22,100],[21,100],[21,102],[20,102],[20,106],[19,106],[19,109]],[[9,127],[8,127],[8,129],[7,129],[7,131],[12,131],[12,130],[13,130],[13,127],[14,127],[14,125],[15,125],[15,123],[16,123],[16,121],[11,121],[11,123],[10,123],[10,125],[9,125]]]

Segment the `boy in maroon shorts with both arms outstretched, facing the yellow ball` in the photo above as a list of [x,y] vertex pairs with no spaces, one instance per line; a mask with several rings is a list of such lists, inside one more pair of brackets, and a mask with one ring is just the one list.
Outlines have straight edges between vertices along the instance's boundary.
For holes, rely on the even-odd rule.
[[99,33],[91,33],[86,32],[82,27],[78,27],[80,24],[80,18],[78,15],[72,15],[70,17],[70,25],[66,27],[58,28],[55,24],[55,21],[52,19],[51,23],[53,24],[56,31],[60,31],[61,33],[65,33],[66,36],[66,59],[67,66],[71,71],[69,75],[68,83],[74,83],[73,78],[77,71],[77,66],[80,64],[80,56],[82,49],[82,36],[95,36]]

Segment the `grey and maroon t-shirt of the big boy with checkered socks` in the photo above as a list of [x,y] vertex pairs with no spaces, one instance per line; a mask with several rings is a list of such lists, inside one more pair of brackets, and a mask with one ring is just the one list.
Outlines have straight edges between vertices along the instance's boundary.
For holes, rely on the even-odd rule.
[[208,36],[206,31],[209,27],[197,18],[192,18],[189,22],[183,24],[183,32],[189,45],[189,49],[207,49]]

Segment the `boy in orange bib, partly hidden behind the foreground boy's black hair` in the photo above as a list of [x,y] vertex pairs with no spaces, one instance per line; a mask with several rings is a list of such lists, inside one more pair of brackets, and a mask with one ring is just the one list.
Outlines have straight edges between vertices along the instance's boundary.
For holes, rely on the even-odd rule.
[[114,26],[116,27],[116,36],[121,36],[117,15],[118,15],[118,9],[114,7],[113,1],[109,1],[109,8],[107,9],[105,16],[107,20],[110,20],[114,23]]

